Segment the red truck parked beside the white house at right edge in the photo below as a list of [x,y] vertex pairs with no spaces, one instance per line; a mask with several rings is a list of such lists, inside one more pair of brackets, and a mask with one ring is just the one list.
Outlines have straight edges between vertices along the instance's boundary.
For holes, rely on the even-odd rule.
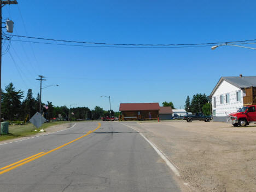
[[256,123],[256,105],[246,106],[238,110],[236,113],[229,114],[226,119],[227,123],[233,126],[246,126],[249,123]]

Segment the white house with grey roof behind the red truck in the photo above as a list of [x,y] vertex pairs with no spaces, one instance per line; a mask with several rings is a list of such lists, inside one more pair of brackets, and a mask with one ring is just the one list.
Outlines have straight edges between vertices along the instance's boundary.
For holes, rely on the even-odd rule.
[[256,86],[256,76],[222,77],[212,90],[213,121],[226,121],[226,116],[243,107],[244,88]]

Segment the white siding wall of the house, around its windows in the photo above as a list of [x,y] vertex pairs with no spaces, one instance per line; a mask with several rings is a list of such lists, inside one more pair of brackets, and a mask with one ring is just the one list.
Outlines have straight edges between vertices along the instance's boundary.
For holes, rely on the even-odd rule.
[[[237,91],[241,91],[241,101],[236,101]],[[226,94],[229,94],[229,103],[226,103]],[[220,104],[221,95],[224,97],[224,102],[222,104]],[[212,96],[212,110],[216,110],[216,117],[225,117],[243,107],[243,95],[241,89],[223,80]],[[214,107],[214,97],[216,98],[216,107]]]

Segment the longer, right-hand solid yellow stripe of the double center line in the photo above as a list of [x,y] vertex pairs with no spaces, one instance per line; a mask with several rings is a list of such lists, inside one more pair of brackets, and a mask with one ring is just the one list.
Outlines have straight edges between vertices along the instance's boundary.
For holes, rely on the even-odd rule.
[[78,137],[78,138],[74,139],[73,141],[70,141],[70,142],[68,142],[68,143],[66,143],[66,144],[63,144],[63,145],[60,146],[60,147],[57,147],[57,148],[55,148],[55,149],[51,149],[51,150],[49,150],[49,152],[45,152],[45,153],[40,154],[40,155],[38,155],[38,156],[36,156],[36,157],[34,157],[34,158],[32,158],[32,159],[28,159],[27,161],[21,162],[21,163],[18,164],[18,165],[15,165],[15,166],[13,166],[13,167],[7,168],[7,169],[4,170],[4,171],[0,171],[0,174],[6,173],[6,172],[8,172],[8,171],[10,171],[10,170],[13,170],[13,169],[16,168],[16,167],[21,166],[21,165],[25,165],[25,164],[27,164],[27,163],[30,162],[30,161],[33,161],[33,160],[36,160],[36,159],[40,158],[41,156],[47,155],[47,154],[49,154],[49,153],[51,153],[51,152],[54,152],[55,150],[58,150],[58,149],[60,149],[60,148],[62,148],[62,147],[67,146],[68,144],[71,144],[71,143],[73,143],[73,142],[75,142],[75,141],[78,141],[79,139],[81,139],[81,138],[83,138],[83,137],[85,137],[85,136],[88,136],[90,133],[96,131],[96,130],[99,129],[100,127],[101,127],[101,123],[98,123],[98,127],[97,127],[96,129],[94,129],[94,130],[92,130],[92,131],[89,131],[89,132],[86,133],[85,135],[83,135],[83,136],[81,136],[81,137]]

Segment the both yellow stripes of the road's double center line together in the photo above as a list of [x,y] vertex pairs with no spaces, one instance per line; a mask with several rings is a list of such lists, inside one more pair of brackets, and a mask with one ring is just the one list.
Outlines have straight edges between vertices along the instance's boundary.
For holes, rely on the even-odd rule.
[[[6,172],[8,172],[8,171],[10,171],[10,170],[13,170],[13,169],[16,168],[16,167],[21,166],[21,165],[25,165],[25,164],[27,164],[27,163],[30,162],[30,161],[33,161],[33,160],[36,160],[36,159],[40,158],[41,156],[47,155],[47,154],[49,154],[49,153],[51,153],[51,152],[54,152],[55,150],[58,150],[58,149],[60,149],[60,148],[62,148],[62,147],[67,146],[68,144],[71,144],[71,143],[73,143],[73,142],[75,142],[75,141],[78,141],[79,139],[82,139],[83,137],[85,137],[85,136],[89,135],[90,133],[96,131],[96,130],[99,129],[100,127],[101,127],[101,124],[98,123],[98,127],[97,127],[96,129],[94,129],[94,130],[92,130],[92,131],[88,131],[85,135],[83,135],[83,136],[81,136],[81,137],[78,137],[78,138],[74,139],[73,141],[70,141],[70,142],[68,142],[68,143],[66,143],[66,144],[63,144],[63,145],[60,146],[60,147],[57,147],[57,148],[55,148],[55,149],[51,149],[51,150],[49,150],[49,152],[40,152],[40,153],[38,153],[38,154],[29,156],[28,158],[25,158],[25,159],[22,159],[22,160],[20,160],[20,161],[14,162],[13,164],[10,164],[10,165],[7,165],[7,166],[5,166],[5,167],[2,167],[2,168],[0,168],[0,174],[6,173]],[[1,171],[1,170],[3,170],[3,171]]]

